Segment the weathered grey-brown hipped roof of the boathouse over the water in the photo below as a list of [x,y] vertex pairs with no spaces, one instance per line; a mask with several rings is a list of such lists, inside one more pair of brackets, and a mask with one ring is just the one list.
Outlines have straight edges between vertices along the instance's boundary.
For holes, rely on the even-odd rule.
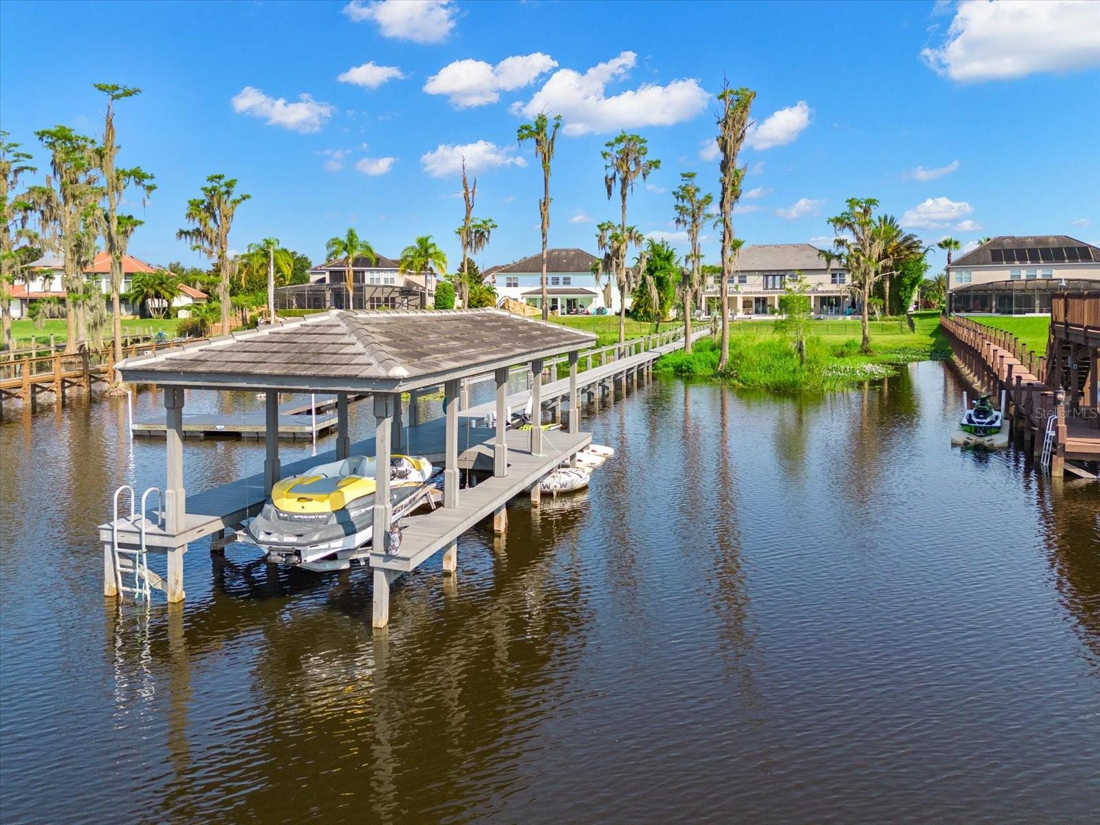
[[399,392],[579,350],[595,336],[499,309],[334,310],[125,359],[125,382]]

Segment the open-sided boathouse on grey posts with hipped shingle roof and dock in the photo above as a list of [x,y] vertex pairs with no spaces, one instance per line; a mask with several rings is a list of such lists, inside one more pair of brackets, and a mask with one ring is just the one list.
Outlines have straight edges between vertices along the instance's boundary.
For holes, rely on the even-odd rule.
[[[167,473],[158,510],[146,510],[143,497],[136,517],[116,517],[101,526],[105,594],[119,594],[119,548],[143,548],[167,553],[167,581],[157,586],[165,590],[169,602],[183,601],[183,554],[188,542],[216,534],[218,538],[223,530],[232,530],[258,512],[280,477],[304,472],[323,460],[319,457],[286,469],[280,466],[279,393],[336,394],[333,459],[354,454],[348,397],[371,394],[374,438],[355,444],[354,452],[375,455],[375,465],[385,469],[375,479],[377,501],[383,504],[375,506],[373,524],[374,536],[383,537],[383,542],[370,549],[374,624],[385,626],[394,578],[440,550],[444,551],[444,571],[453,571],[455,540],[463,531],[491,515],[503,519],[504,506],[510,498],[537,487],[542,477],[590,443],[591,435],[580,432],[579,416],[572,410],[579,408],[579,352],[594,340],[595,336],[587,332],[496,309],[332,311],[120,362],[122,381],[156,384],[164,389]],[[539,376],[546,359],[561,355],[568,355],[569,363],[568,429],[507,429],[509,369],[522,364]],[[492,428],[459,416],[461,383],[485,374],[496,383]],[[420,424],[416,420],[416,394],[438,387],[443,388],[444,415]],[[266,394],[268,427],[262,487],[241,480],[188,498],[183,464],[186,389]],[[403,394],[411,394],[414,402],[407,422],[403,420]],[[530,397],[534,409],[540,409],[540,381],[531,384]],[[460,491],[460,448],[469,454],[468,466],[473,466],[479,457],[484,459],[487,451],[492,455],[492,477]],[[425,454],[444,465],[442,507],[414,519],[399,546],[391,546],[392,450]]]

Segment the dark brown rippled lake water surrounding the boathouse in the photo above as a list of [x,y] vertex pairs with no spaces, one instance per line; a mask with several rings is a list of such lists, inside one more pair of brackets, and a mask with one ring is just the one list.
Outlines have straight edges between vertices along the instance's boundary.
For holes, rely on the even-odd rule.
[[[94,528],[163,442],[117,400],[16,416],[0,818],[1094,822],[1100,494],[950,449],[959,392],[657,382],[585,420],[618,450],[586,495],[468,534],[383,635],[366,570],[244,546],[191,546],[183,609],[105,606]],[[189,441],[187,483],[261,452]]]

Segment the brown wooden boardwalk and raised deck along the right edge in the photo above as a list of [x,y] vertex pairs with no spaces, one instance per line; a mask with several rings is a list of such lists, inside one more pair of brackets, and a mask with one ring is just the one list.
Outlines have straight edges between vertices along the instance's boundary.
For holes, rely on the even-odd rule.
[[1046,352],[1004,330],[943,317],[956,364],[978,389],[999,396],[1012,435],[1035,455],[1053,432],[1050,473],[1096,477],[1078,462],[1100,461],[1100,293],[1056,295]]

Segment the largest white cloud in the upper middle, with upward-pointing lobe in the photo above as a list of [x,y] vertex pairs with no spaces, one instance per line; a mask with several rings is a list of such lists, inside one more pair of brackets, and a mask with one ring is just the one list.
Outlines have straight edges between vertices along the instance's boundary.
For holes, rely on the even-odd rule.
[[668,127],[690,120],[706,107],[710,95],[694,78],[666,86],[642,84],[608,96],[607,85],[629,75],[637,63],[634,52],[600,63],[584,74],[558,69],[526,103],[517,101],[514,114],[534,118],[540,112],[562,116],[569,135],[614,132],[638,127]]

